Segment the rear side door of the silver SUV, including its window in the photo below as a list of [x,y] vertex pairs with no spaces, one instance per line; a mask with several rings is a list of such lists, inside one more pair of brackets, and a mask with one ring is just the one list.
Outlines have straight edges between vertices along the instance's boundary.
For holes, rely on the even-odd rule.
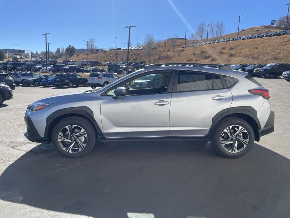
[[230,107],[232,94],[221,76],[198,71],[176,72],[170,106],[170,136],[206,135],[212,118]]

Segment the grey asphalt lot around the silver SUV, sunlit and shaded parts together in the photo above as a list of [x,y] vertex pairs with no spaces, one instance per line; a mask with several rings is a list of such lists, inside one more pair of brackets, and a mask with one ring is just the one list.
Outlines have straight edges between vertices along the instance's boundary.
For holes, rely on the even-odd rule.
[[110,142],[82,159],[24,137],[26,107],[88,87],[23,87],[0,106],[0,217],[288,217],[290,82],[270,92],[275,132],[242,158],[210,143]]

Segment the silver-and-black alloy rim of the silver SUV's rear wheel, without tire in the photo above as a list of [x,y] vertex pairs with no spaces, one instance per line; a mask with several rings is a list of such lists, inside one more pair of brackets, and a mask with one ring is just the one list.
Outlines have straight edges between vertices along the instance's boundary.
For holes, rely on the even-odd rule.
[[232,125],[224,129],[220,136],[220,143],[224,150],[238,153],[248,145],[249,134],[244,127]]

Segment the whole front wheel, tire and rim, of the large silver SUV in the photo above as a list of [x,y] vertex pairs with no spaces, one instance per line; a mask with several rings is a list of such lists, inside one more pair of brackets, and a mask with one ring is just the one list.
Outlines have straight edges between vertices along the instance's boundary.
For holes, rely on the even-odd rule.
[[67,117],[53,129],[52,144],[62,155],[80,158],[91,152],[96,144],[97,134],[93,125],[82,117]]

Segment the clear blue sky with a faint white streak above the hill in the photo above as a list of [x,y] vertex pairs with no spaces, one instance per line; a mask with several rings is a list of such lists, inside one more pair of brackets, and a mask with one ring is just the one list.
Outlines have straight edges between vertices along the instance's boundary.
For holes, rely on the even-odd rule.
[[[240,29],[270,24],[272,19],[287,15],[285,4],[289,0],[270,1],[194,1],[194,0],[0,0],[1,32],[0,49],[14,48],[38,52],[45,50],[45,37],[50,50],[74,45],[85,48],[83,40],[95,38],[98,48],[115,46],[123,48],[128,41],[127,25],[131,29],[131,42],[143,42],[146,33],[155,39],[164,34],[184,37],[196,30],[198,23],[224,20],[226,33]],[[187,37],[188,38],[188,37]]]

